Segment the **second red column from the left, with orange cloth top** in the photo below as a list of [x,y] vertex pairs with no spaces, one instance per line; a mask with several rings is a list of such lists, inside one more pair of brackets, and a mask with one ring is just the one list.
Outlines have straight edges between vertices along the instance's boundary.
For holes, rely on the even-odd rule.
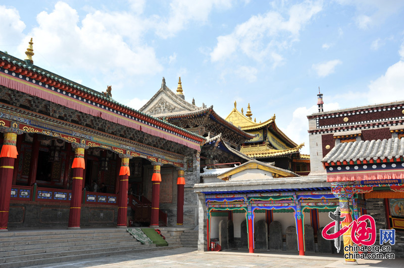
[[[73,147],[76,146],[79,145],[73,144]],[[68,229],[80,229],[81,197],[83,189],[83,173],[85,169],[84,148],[78,147],[74,149],[72,168],[72,199],[70,202]]]

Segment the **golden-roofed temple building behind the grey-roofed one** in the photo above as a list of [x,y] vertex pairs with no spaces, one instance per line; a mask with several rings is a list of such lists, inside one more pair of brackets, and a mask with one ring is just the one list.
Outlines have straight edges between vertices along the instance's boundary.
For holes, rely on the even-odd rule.
[[245,140],[240,148],[240,152],[246,156],[263,162],[275,162],[277,167],[291,170],[299,175],[310,173],[310,156],[300,154],[300,149],[304,144],[297,145],[290,140],[276,125],[275,114],[264,122],[252,120],[252,112],[248,103],[247,112],[244,115],[234,108],[226,117],[226,120],[241,128],[241,130],[255,135],[255,138]]

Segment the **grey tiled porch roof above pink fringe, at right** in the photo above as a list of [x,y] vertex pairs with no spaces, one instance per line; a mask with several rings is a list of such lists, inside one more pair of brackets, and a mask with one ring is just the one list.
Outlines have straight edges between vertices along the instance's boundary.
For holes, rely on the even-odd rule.
[[363,161],[378,158],[399,158],[404,154],[404,137],[337,144],[322,162]]

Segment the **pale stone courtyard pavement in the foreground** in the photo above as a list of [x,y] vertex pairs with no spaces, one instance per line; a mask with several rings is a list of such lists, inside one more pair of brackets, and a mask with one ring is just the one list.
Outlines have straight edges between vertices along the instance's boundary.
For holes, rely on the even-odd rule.
[[[102,258],[83,259],[36,266],[45,267],[352,267],[344,265],[342,256],[306,255],[292,253],[274,254],[267,252],[247,253],[243,251],[198,252],[192,248],[176,248],[169,250],[142,252],[138,255],[124,254]],[[395,260],[359,260],[356,267],[403,267],[404,259]],[[355,267],[355,266],[354,266]]]

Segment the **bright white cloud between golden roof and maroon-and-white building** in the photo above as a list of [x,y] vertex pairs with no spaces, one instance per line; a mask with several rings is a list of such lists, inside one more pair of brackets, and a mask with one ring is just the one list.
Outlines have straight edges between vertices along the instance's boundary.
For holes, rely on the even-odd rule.
[[[337,102],[327,103],[328,111],[339,109],[340,106]],[[301,153],[310,154],[309,150],[309,135],[307,130],[309,129],[309,121],[307,115],[318,112],[317,105],[311,107],[298,107],[293,111],[292,120],[286,126],[281,129],[293,142],[300,144],[305,143],[305,147],[301,149]]]

